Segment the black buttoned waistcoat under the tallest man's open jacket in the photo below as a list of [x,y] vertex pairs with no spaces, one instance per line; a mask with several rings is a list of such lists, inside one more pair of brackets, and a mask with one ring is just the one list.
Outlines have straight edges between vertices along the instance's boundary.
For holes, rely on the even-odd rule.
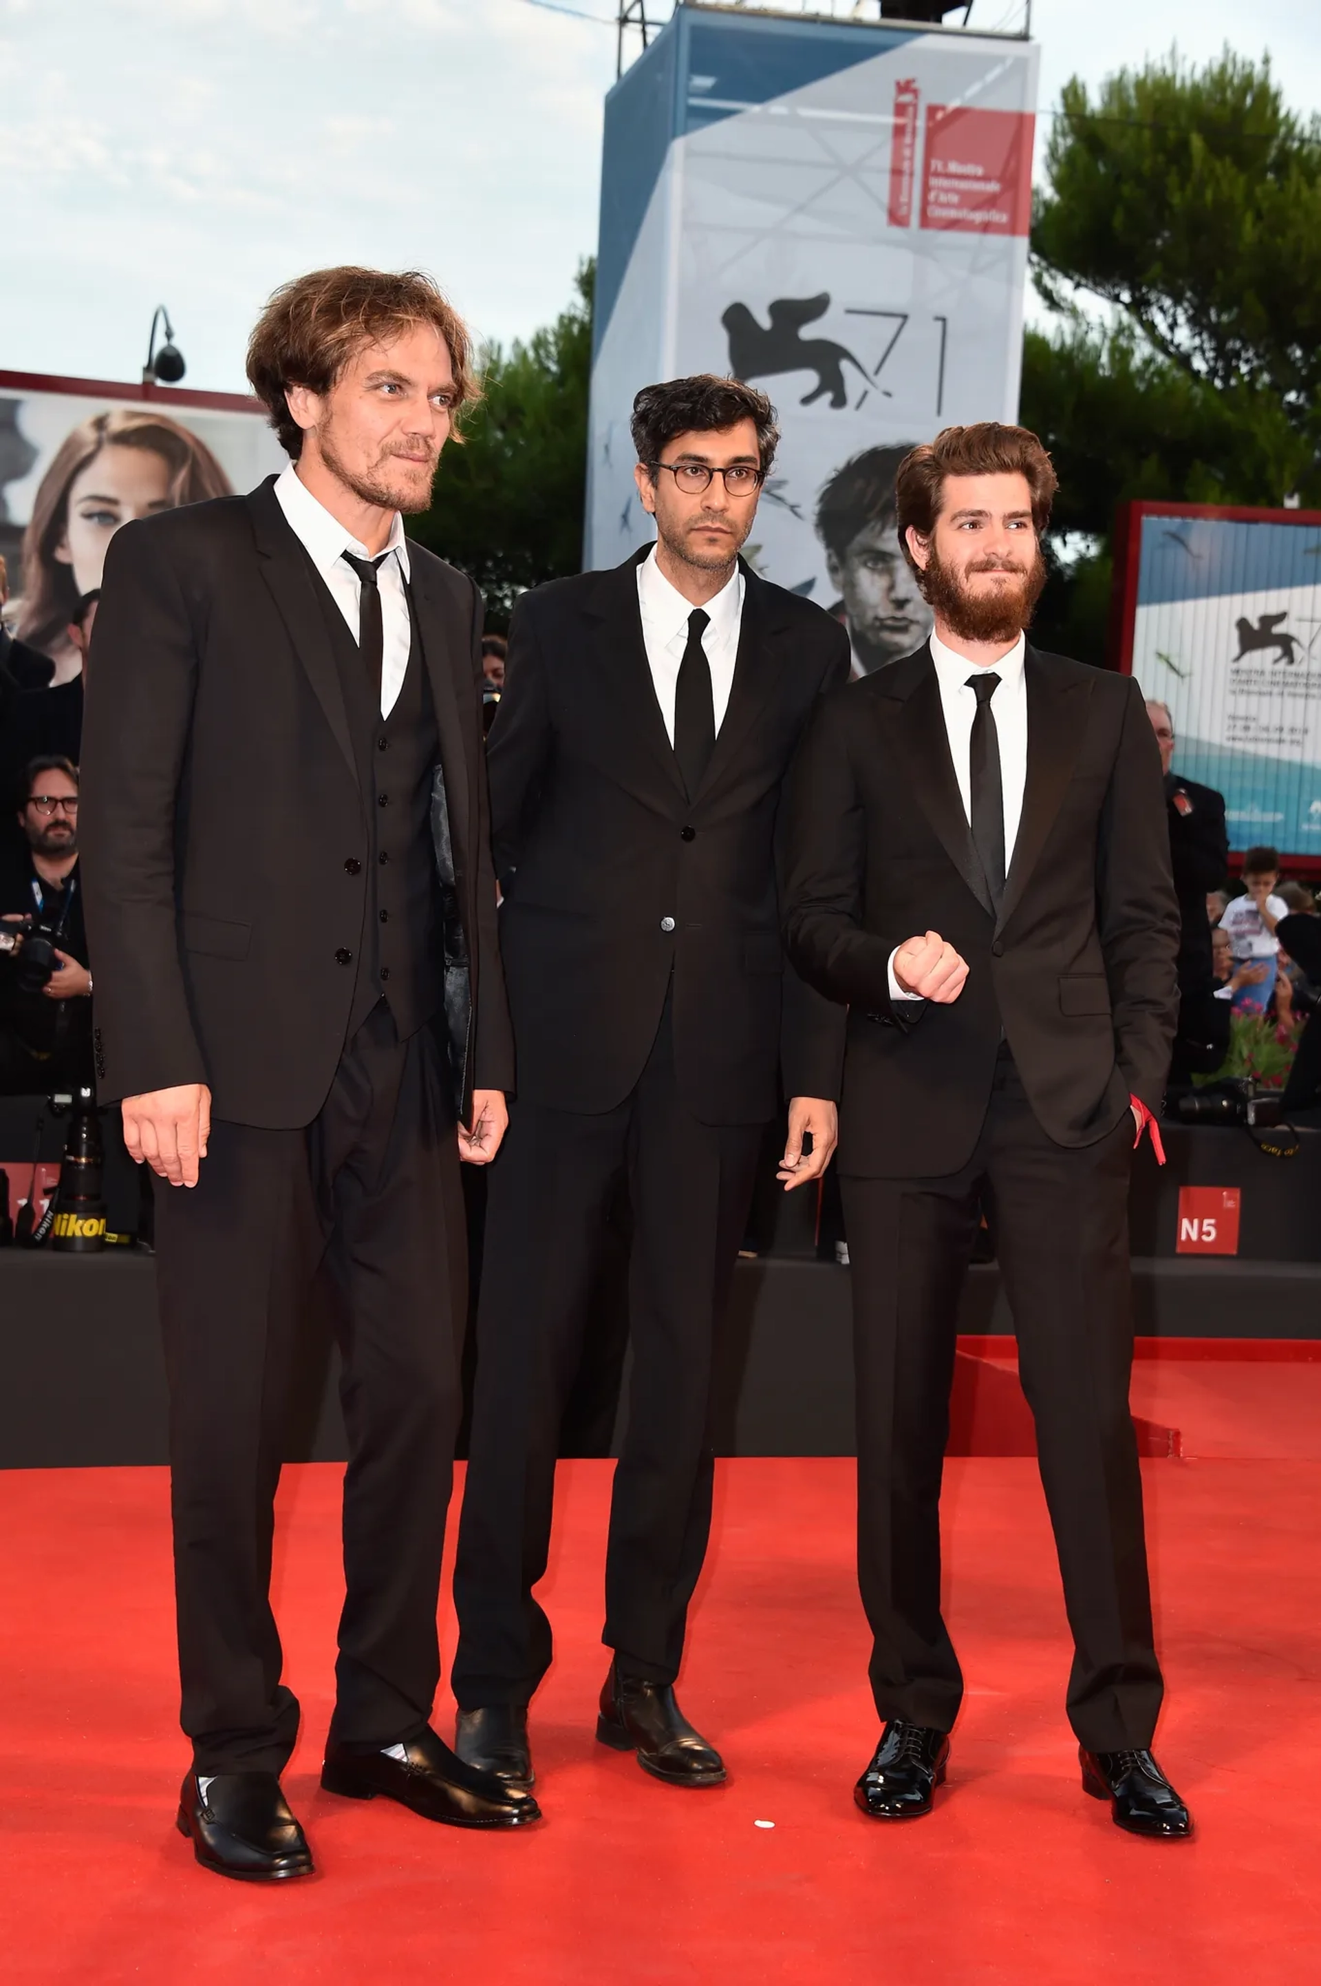
[[444,1007],[448,920],[432,840],[436,788],[440,794],[444,790],[436,711],[413,604],[413,643],[403,687],[389,717],[381,717],[357,641],[319,576],[317,590],[335,649],[367,816],[367,908],[355,959],[349,1037],[375,1003],[387,999],[399,1037],[407,1041]]

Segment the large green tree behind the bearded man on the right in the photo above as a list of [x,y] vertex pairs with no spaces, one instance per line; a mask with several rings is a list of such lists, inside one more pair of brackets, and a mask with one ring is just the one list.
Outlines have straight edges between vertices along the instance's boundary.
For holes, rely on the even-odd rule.
[[1125,70],[1095,101],[1075,79],[1031,250],[1059,318],[1023,342],[1021,417],[1061,479],[1037,634],[1103,661],[1119,502],[1321,502],[1321,127],[1228,52]]

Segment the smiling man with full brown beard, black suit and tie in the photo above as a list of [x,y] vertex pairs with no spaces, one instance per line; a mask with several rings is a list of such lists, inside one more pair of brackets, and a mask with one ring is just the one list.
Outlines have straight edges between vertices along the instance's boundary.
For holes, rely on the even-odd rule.
[[1083,1789],[1133,1833],[1184,1837],[1150,1756],[1127,1235],[1178,1013],[1178,904],[1139,685],[1023,638],[1053,493],[1021,427],[950,427],[904,459],[901,536],[934,634],[827,699],[793,773],[785,941],[849,1007],[859,1583],[885,1724],[855,1797],[875,1819],[922,1815],[946,1772],[962,1674],[940,1468],[986,1209],[1073,1629]]

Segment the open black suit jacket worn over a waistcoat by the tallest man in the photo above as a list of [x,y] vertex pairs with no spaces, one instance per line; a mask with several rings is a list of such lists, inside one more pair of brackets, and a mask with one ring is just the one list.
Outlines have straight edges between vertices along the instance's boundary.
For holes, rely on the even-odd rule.
[[[482,755],[482,604],[409,544],[472,973],[464,1104],[512,1088]],[[103,1096],[208,1082],[311,1122],[367,904],[357,759],[313,570],[274,479],[115,532],[93,634],[81,868]]]

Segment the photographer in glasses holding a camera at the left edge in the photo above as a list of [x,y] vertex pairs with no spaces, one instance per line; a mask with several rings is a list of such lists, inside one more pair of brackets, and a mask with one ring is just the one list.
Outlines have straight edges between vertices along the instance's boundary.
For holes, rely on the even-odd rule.
[[34,759],[18,852],[0,862],[0,1094],[91,1082],[91,973],[77,886],[77,769]]

